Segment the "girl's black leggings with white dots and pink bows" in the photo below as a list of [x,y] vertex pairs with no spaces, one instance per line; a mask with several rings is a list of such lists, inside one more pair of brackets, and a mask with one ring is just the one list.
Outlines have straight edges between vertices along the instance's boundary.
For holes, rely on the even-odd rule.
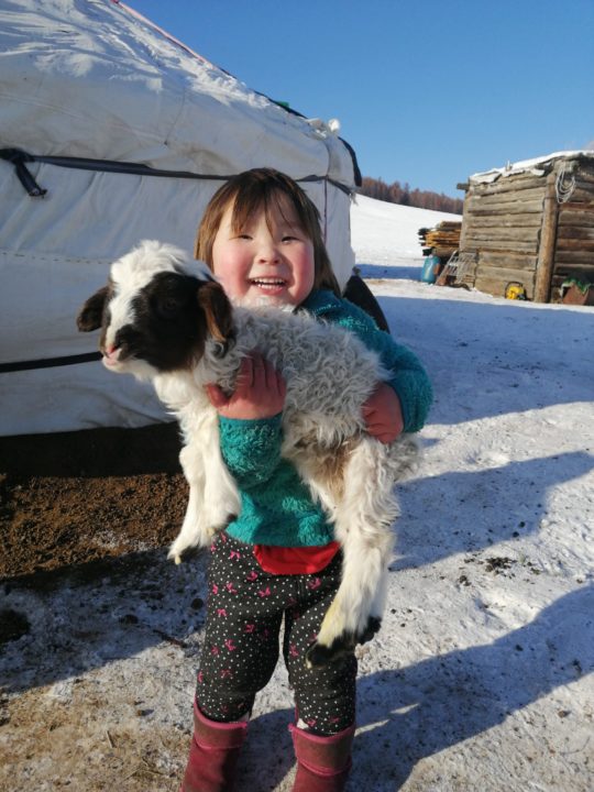
[[344,654],[326,667],[306,668],[304,658],[340,583],[342,554],[314,574],[271,574],[253,547],[220,534],[211,547],[206,637],[196,697],[212,721],[233,722],[250,713],[255,694],[283,656],[299,717],[315,733],[338,734],[354,723],[356,658]]

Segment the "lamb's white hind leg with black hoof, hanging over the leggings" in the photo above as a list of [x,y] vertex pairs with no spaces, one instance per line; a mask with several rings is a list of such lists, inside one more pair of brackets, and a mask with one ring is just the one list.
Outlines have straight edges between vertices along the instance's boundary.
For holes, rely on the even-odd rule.
[[394,549],[392,524],[398,516],[388,449],[363,438],[344,471],[344,496],[337,509],[336,536],[342,544],[342,580],[306,653],[321,666],[380,629]]

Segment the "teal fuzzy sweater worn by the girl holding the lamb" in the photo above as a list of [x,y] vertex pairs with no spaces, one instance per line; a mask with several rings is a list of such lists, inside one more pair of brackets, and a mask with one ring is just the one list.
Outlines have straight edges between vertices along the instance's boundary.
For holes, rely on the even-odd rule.
[[[351,330],[378,352],[383,365],[393,373],[388,384],[400,399],[405,431],[422,428],[432,389],[413,352],[378,330],[363,310],[331,292],[314,292],[301,309]],[[241,512],[228,532],[252,544],[310,547],[332,541],[332,526],[323,510],[312,502],[293,464],[280,457],[280,415],[260,420],[220,417],[219,426],[222,457],[241,497]]]

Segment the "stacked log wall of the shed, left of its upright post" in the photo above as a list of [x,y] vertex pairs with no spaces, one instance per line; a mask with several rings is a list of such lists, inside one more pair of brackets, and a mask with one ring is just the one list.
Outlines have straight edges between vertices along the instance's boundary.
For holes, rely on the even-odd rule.
[[546,178],[531,174],[472,184],[464,200],[461,253],[474,253],[465,282],[503,297],[510,280],[534,299]]

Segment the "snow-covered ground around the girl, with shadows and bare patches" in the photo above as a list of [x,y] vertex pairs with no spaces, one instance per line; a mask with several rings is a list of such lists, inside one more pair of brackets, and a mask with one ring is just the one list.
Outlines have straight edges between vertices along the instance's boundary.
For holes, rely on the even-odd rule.
[[[417,230],[447,217],[362,197],[352,209],[362,274],[436,404],[402,486],[384,626],[358,650],[349,790],[591,792],[594,309],[421,284]],[[2,789],[177,789],[205,562],[164,556],[1,592],[1,607],[34,614],[0,657]],[[239,792],[290,789],[290,718],[279,664]]]

